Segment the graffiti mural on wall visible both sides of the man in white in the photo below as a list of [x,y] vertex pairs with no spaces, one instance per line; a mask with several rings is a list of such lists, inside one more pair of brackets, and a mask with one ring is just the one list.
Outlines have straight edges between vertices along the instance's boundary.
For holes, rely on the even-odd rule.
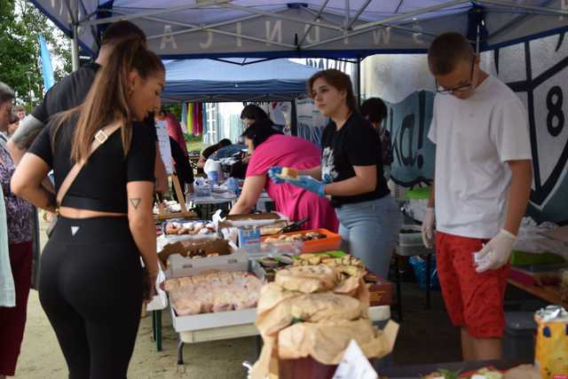
[[[391,59],[390,67],[394,59],[405,57]],[[426,66],[417,64],[422,77],[430,75]],[[384,66],[377,71],[383,74]],[[551,36],[486,52],[482,68],[507,83],[527,109],[534,173],[527,214],[538,222],[568,222],[568,42],[564,35]],[[435,146],[427,138],[433,97],[429,90],[414,91],[388,103],[385,126],[393,136],[391,177],[399,185],[414,186],[433,176]]]

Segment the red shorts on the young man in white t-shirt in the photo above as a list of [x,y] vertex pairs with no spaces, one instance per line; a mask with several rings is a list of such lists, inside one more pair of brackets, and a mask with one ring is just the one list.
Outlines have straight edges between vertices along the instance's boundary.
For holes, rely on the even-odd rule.
[[469,336],[503,336],[503,299],[509,264],[477,273],[473,253],[486,240],[436,233],[436,265],[446,311],[456,327],[467,328]]

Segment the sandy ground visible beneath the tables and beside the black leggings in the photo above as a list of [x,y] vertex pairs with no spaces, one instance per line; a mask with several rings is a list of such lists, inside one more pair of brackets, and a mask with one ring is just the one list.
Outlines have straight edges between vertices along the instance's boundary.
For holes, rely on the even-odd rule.
[[[405,321],[401,324],[390,364],[425,364],[461,359],[459,333],[452,328],[438,291],[432,292],[432,306],[424,310],[425,294],[414,283],[403,284]],[[151,317],[141,320],[131,379],[224,379],[245,377],[244,360],[254,361],[255,339],[239,338],[215,343],[185,345],[185,372],[176,365],[177,337],[169,312],[163,312],[163,351],[157,352],[150,339]],[[32,291],[28,324],[16,377],[59,379],[67,377],[65,361],[48,320]]]

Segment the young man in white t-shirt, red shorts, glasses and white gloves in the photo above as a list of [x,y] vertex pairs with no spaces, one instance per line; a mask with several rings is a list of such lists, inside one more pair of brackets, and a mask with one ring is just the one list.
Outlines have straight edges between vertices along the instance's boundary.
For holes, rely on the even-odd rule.
[[432,247],[436,224],[438,275],[463,359],[500,359],[509,255],[533,180],[526,111],[460,34],[438,36],[428,62],[438,91],[428,135],[436,174],[422,239]]

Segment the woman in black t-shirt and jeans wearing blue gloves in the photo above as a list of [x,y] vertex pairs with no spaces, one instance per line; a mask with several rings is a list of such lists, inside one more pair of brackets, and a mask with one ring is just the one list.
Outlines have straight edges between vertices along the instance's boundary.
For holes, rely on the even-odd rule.
[[[401,215],[383,177],[379,136],[359,114],[348,75],[335,69],[319,71],[310,78],[308,93],[330,118],[321,138],[321,165],[300,171],[298,180],[288,182],[330,196],[343,249],[386,278]],[[272,168],[271,177],[277,178],[280,170]]]

